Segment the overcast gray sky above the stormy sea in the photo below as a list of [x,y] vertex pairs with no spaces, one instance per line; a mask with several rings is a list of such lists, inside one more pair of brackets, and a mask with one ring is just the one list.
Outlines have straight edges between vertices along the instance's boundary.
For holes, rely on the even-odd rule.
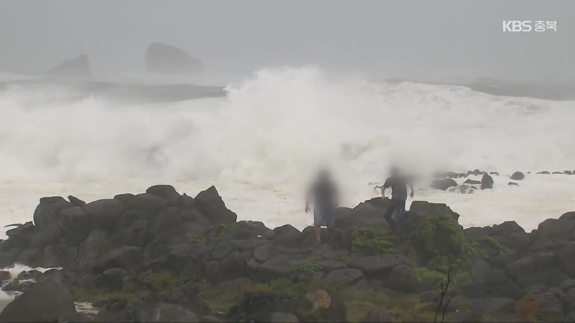
[[[223,74],[320,64],[575,83],[574,16],[569,0],[2,0],[0,68],[86,54],[96,74],[137,74],[162,41]],[[557,32],[503,32],[503,20],[557,21]]]

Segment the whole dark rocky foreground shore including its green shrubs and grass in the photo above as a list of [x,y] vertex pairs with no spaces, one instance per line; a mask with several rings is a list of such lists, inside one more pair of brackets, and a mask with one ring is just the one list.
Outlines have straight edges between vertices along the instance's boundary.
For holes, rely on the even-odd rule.
[[41,198],[0,242],[0,268],[61,269],[0,271],[18,295],[0,322],[575,321],[575,212],[530,233],[463,229],[448,206],[413,201],[396,234],[388,202],[338,207],[332,241],[313,247],[312,227],[236,221],[213,186]]

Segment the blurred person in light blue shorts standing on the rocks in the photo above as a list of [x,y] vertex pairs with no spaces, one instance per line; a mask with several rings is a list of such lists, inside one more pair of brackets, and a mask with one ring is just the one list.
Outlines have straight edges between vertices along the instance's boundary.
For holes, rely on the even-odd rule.
[[329,171],[322,170],[310,187],[305,200],[305,213],[309,212],[309,202],[313,199],[313,230],[315,245],[321,244],[321,226],[327,226],[328,239],[333,237],[333,209],[338,206],[338,190]]

